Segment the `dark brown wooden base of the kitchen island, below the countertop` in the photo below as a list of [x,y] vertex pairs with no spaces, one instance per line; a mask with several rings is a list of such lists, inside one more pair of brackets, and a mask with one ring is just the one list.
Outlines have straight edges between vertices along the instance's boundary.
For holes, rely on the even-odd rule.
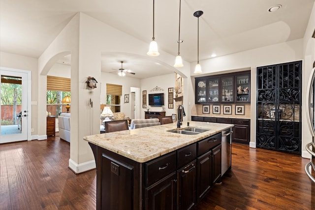
[[192,209],[221,178],[221,133],[145,163],[89,144],[97,210]]

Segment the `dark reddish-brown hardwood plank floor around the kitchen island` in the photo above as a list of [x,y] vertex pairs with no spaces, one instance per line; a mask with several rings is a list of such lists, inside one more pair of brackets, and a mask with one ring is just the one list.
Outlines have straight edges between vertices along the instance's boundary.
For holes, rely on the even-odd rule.
[[[194,210],[315,209],[308,159],[232,147],[232,171]],[[68,160],[69,143],[59,137],[0,144],[0,210],[95,210],[95,170],[75,175]]]

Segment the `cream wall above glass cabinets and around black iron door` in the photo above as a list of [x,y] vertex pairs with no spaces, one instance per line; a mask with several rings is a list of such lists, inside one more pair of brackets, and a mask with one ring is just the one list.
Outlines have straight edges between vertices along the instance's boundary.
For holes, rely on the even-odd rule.
[[[269,64],[279,64],[290,61],[303,60],[303,39],[297,39],[280,44],[274,44],[253,50],[243,51],[227,56],[200,61],[203,73],[199,76],[226,73],[231,71],[251,70],[251,81],[256,81],[256,67]],[[191,74],[195,64],[191,64]],[[196,75],[195,75],[196,76]],[[303,81],[304,83],[304,81]],[[251,90],[256,90],[255,82],[251,83]],[[256,91],[251,91],[251,147],[256,147],[255,110]],[[189,94],[189,101],[194,95]],[[194,108],[194,107],[192,107]]]

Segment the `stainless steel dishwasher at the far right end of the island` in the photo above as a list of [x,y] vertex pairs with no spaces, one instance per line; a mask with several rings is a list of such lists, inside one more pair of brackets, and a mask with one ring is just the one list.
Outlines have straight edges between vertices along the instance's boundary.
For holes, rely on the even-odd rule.
[[221,142],[221,176],[225,174],[228,169],[231,169],[232,162],[232,128],[222,131]]

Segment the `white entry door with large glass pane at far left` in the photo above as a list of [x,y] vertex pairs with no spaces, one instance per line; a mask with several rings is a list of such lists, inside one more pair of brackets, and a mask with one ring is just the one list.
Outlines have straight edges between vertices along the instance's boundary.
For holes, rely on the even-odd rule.
[[28,73],[0,70],[0,143],[28,140]]

